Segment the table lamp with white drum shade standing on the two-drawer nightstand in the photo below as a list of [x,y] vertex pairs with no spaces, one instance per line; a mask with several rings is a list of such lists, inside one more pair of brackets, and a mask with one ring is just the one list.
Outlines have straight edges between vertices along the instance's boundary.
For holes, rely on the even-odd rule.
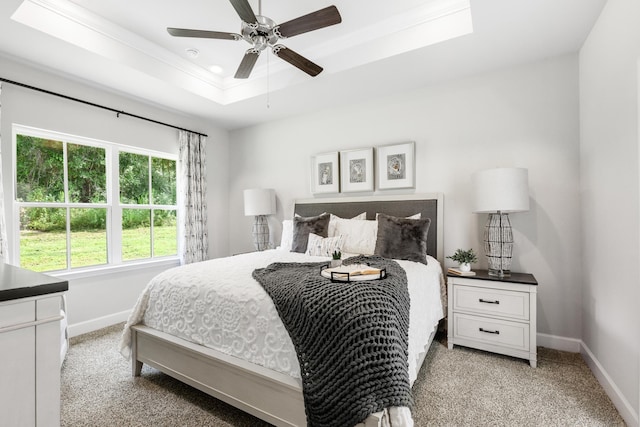
[[529,210],[528,180],[524,168],[487,169],[473,175],[473,212],[489,213],[484,228],[484,252],[490,276],[511,276],[513,233],[509,213]]

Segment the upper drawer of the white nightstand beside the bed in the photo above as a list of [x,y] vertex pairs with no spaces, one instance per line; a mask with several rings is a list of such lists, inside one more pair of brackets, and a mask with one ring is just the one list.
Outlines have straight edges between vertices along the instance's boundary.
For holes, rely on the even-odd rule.
[[453,304],[455,311],[529,320],[529,292],[458,285]]

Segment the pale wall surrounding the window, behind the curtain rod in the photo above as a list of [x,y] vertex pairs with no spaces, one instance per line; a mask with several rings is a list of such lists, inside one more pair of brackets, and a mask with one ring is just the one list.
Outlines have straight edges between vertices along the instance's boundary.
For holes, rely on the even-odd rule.
[[[146,116],[176,126],[209,135],[207,156],[211,165],[209,177],[209,236],[212,257],[228,253],[227,159],[228,134],[208,125],[204,120],[188,118],[161,110],[123,96],[102,91],[79,82],[42,72],[25,64],[0,57],[0,75],[53,92],[87,100],[97,104]],[[4,83],[2,87],[2,170],[7,224],[13,223],[12,200],[12,131],[13,123],[54,130],[110,142],[138,146],[168,153],[178,152],[178,132],[139,119],[35,92]],[[9,241],[17,238],[16,230],[8,227]],[[123,320],[133,307],[138,294],[162,267],[133,269],[126,272],[107,272],[102,275],[70,280],[68,312],[70,331],[74,334],[97,329]]]

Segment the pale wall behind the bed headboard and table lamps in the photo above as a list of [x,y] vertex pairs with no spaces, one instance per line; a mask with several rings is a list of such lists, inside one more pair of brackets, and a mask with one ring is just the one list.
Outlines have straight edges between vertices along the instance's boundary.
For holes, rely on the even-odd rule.
[[[444,193],[445,254],[469,247],[483,253],[486,215],[471,213],[471,174],[525,167],[531,210],[512,215],[513,270],[533,273],[540,283],[539,331],[579,339],[578,131],[576,55],[234,131],[231,250],[252,249],[243,189],[276,190],[278,211],[270,226],[279,242],[279,221],[292,215],[294,199],[311,197],[312,155],[415,141],[415,192]],[[484,259],[480,266],[486,267]]]

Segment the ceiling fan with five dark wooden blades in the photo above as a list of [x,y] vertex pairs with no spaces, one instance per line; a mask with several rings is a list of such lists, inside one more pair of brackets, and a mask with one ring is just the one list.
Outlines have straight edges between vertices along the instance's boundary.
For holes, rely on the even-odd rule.
[[322,67],[319,65],[314,64],[286,46],[276,43],[280,39],[339,24],[342,22],[342,17],[335,6],[329,6],[277,25],[272,19],[262,16],[261,1],[258,15],[253,13],[248,0],[229,1],[242,20],[241,34],[171,27],[167,28],[167,31],[175,37],[246,40],[252,47],[245,52],[244,58],[234,76],[236,79],[249,77],[260,53],[267,47],[271,47],[272,52],[278,58],[284,59],[312,77],[322,72]]

